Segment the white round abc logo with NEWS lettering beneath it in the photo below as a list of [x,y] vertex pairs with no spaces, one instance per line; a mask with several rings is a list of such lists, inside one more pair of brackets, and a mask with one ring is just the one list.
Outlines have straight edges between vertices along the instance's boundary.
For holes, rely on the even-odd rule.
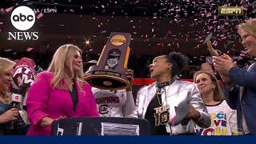
[[22,30],[23,32],[8,32],[8,39],[19,41],[38,40],[38,32],[24,31],[29,30],[32,26],[34,26],[35,19],[36,18],[33,10],[27,6],[18,6],[11,13],[10,22],[16,29]]

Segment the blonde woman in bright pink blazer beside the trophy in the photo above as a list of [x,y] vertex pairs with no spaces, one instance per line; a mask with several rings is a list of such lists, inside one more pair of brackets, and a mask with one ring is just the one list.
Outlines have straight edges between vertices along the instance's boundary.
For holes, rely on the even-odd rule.
[[48,70],[38,74],[26,100],[28,135],[50,135],[58,118],[98,117],[91,87],[82,80],[81,53],[77,46],[60,46]]

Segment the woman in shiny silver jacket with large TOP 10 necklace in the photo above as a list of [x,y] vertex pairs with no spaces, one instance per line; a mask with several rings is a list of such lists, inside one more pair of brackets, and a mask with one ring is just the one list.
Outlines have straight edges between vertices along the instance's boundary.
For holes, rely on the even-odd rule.
[[155,82],[138,91],[134,117],[150,122],[151,134],[195,134],[194,123],[210,126],[210,115],[197,86],[176,75],[187,65],[185,55],[172,52],[154,58],[150,78]]

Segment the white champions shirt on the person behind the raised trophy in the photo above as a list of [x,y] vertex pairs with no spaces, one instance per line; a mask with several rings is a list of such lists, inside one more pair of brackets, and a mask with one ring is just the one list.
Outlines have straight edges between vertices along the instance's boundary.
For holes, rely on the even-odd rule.
[[134,97],[131,91],[102,90],[92,88],[98,112],[101,117],[126,117],[134,111]]

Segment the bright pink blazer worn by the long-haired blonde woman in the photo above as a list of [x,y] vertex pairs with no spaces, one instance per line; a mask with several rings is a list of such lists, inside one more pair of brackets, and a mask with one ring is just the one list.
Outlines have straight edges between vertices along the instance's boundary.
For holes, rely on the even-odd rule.
[[31,125],[27,135],[51,134],[51,126],[39,126],[44,117],[54,119],[60,116],[66,118],[98,117],[94,95],[88,83],[84,83],[82,89],[80,89],[76,82],[78,105],[74,110],[69,91],[53,89],[50,86],[53,75],[50,72],[42,72],[30,87],[26,106]]

